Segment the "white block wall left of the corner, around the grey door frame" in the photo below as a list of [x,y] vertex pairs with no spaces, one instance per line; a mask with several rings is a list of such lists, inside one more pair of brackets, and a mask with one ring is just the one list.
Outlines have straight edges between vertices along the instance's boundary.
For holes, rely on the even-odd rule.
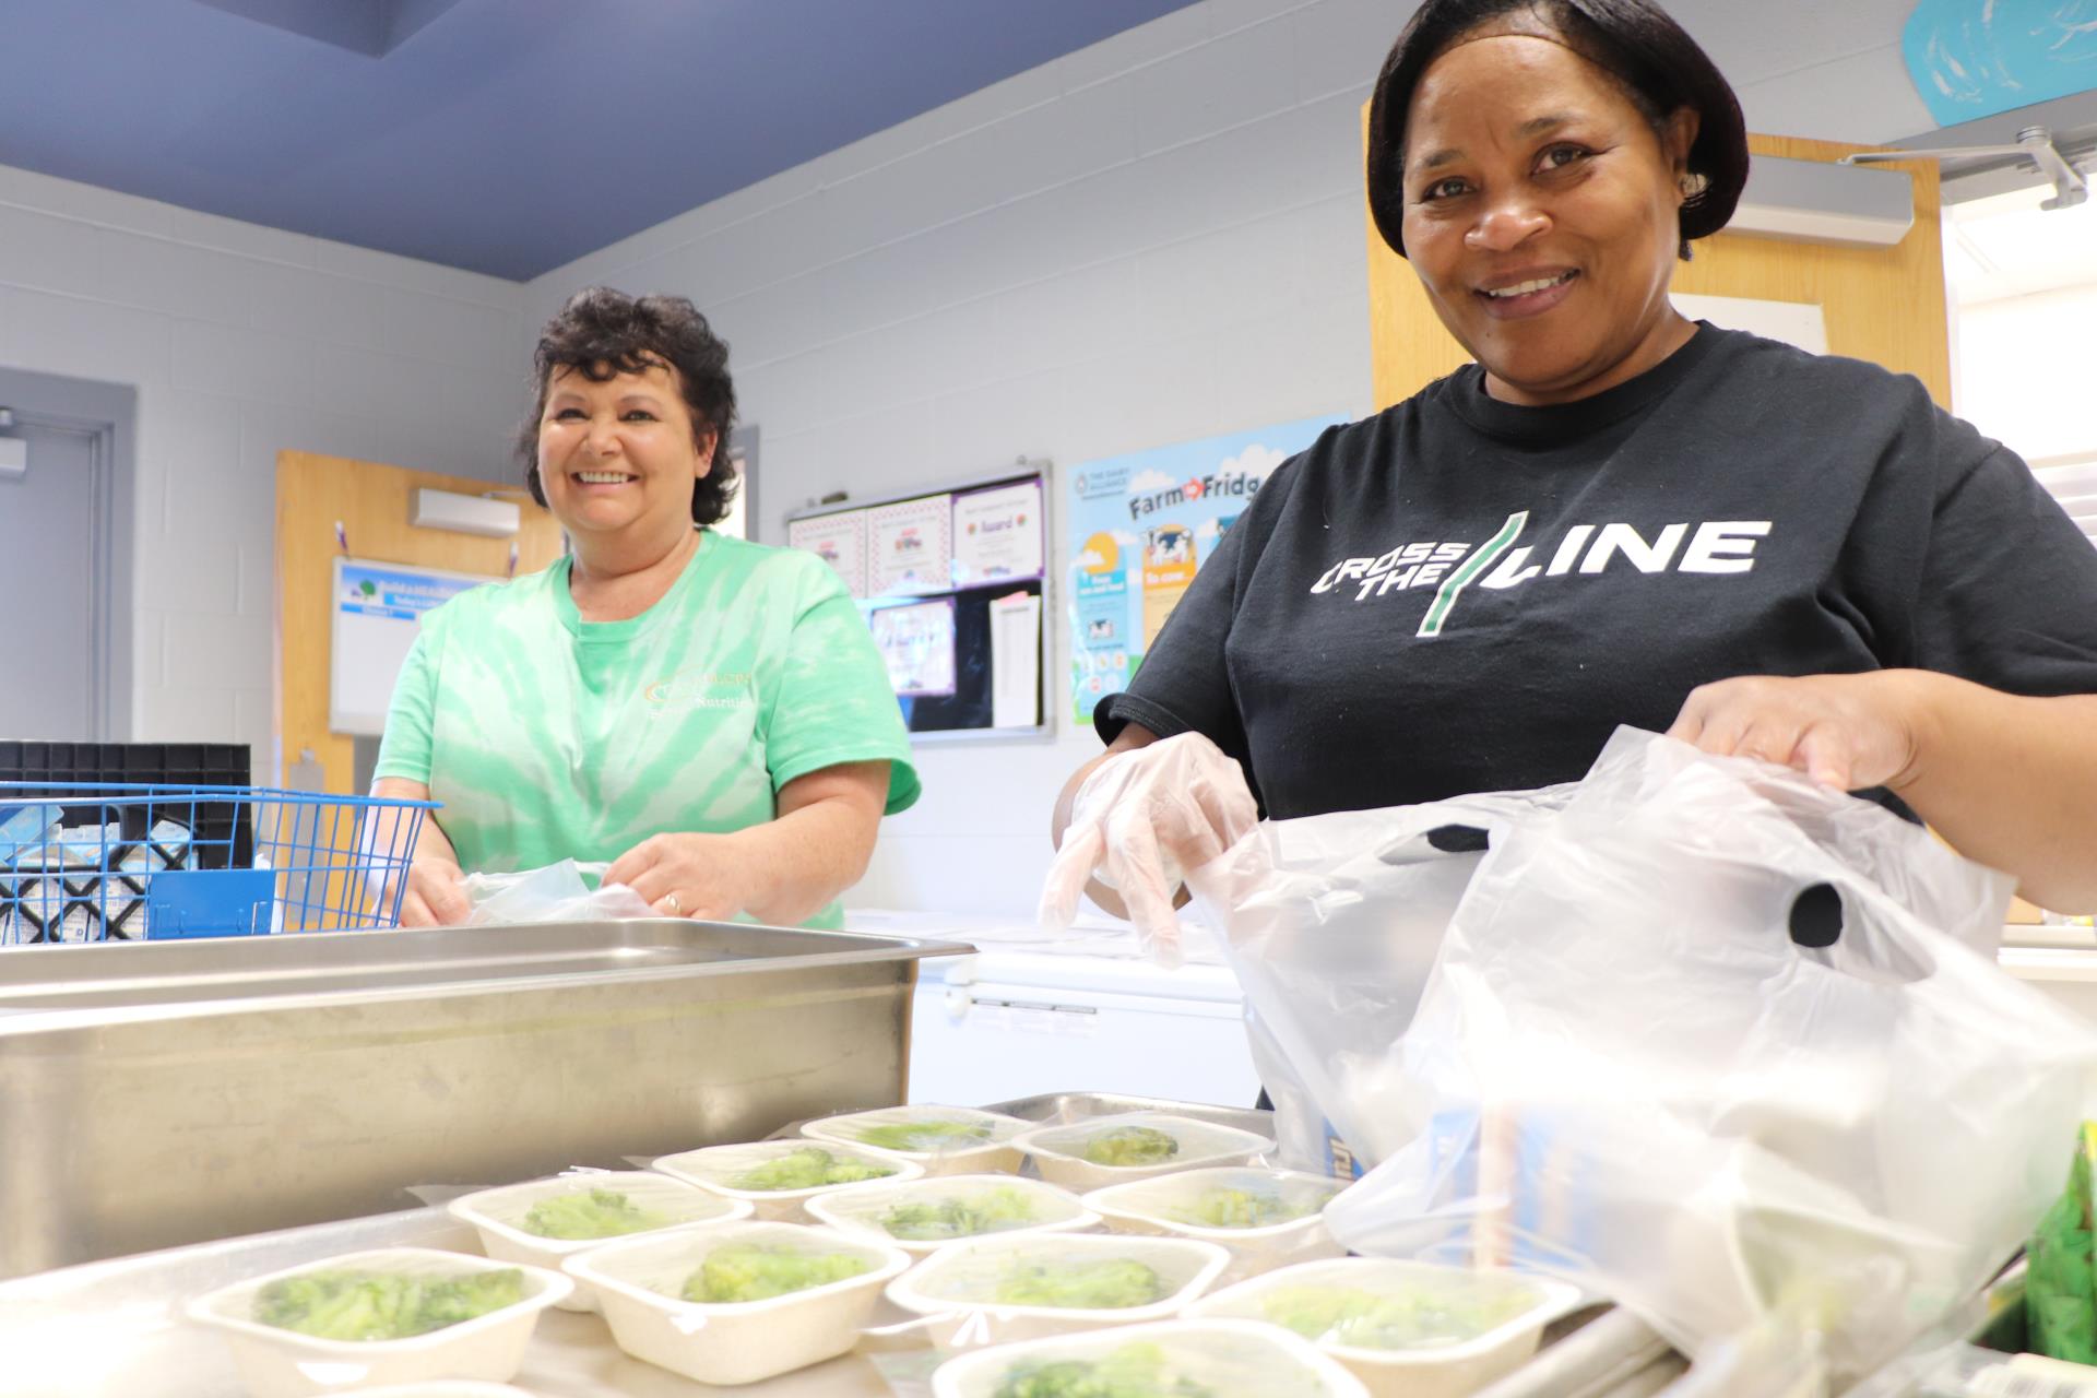
[[520,298],[0,166],[0,365],[138,390],[136,740],[245,742],[262,780],[277,451],[507,478]]

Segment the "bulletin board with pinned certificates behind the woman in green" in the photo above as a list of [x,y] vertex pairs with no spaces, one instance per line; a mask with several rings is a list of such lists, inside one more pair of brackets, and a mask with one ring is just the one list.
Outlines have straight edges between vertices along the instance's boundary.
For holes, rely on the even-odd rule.
[[786,543],[845,583],[914,738],[1051,731],[1046,463],[799,509]]

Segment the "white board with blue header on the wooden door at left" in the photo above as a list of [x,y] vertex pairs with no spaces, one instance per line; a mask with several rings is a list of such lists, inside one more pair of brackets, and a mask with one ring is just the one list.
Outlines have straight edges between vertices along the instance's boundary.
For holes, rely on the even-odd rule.
[[424,612],[470,587],[499,581],[336,555],[336,587],[327,595],[333,627],[327,652],[327,727],[363,738],[384,734],[392,687]]

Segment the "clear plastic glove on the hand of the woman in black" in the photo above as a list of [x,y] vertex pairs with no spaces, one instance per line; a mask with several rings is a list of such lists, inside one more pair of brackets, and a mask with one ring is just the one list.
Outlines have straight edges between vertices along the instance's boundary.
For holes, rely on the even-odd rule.
[[1258,820],[1246,773],[1202,734],[1109,757],[1072,801],[1063,847],[1042,887],[1042,931],[1069,931],[1086,880],[1099,878],[1120,889],[1143,949],[1176,966],[1172,895],[1181,876],[1227,851]]

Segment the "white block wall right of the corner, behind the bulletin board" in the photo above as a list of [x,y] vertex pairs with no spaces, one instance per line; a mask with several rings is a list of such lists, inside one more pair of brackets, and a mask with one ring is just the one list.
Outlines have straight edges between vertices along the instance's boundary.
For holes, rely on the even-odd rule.
[[[1673,8],[1757,130],[1927,126],[1904,0],[1799,6],[1793,25]],[[583,285],[696,300],[763,432],[770,543],[828,490],[1363,413],[1361,105],[1409,10],[1206,0],[549,272],[526,335]],[[1053,625],[1061,696],[1061,606]],[[1099,750],[1061,721],[1053,744],[921,746],[925,799],[847,901],[1028,916],[1051,801]]]

